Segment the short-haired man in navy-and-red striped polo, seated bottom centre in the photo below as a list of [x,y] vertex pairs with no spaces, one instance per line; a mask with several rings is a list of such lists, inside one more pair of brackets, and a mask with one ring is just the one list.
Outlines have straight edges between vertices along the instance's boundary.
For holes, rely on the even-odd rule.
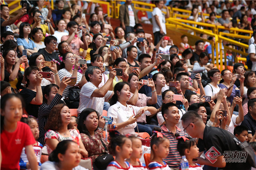
[[177,127],[180,120],[179,109],[174,103],[162,105],[162,117],[165,119],[165,125],[161,126],[162,134],[170,140],[169,154],[163,159],[170,168],[179,168],[181,163],[181,155],[177,151],[177,143],[175,134],[188,137],[187,133]]

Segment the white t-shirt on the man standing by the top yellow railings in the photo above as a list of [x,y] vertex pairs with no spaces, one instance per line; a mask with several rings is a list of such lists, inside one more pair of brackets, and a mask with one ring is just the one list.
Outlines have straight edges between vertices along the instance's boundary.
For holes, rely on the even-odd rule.
[[152,11],[152,23],[153,23],[153,33],[160,31],[160,28],[158,27],[155,19],[155,15],[158,16],[158,19],[160,21],[161,27],[163,32],[166,34],[166,27],[165,27],[165,14],[162,13],[162,11],[158,8],[155,7],[154,10]]

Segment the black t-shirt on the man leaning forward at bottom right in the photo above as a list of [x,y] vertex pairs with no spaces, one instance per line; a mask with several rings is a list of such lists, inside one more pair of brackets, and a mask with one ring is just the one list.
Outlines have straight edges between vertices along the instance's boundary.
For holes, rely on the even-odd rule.
[[[241,151],[240,147],[234,141],[235,136],[230,132],[216,128],[212,126],[205,126],[203,132],[203,145],[205,150],[209,151],[211,147],[214,147],[221,155],[228,156],[225,151],[231,151],[231,154],[234,152],[232,151]],[[213,148],[211,148],[213,151]],[[213,154],[217,153],[216,151]],[[239,154],[239,153],[238,153]],[[232,157],[231,157],[232,158]],[[246,163],[226,163],[226,167],[221,169],[250,169],[251,166],[248,162]]]

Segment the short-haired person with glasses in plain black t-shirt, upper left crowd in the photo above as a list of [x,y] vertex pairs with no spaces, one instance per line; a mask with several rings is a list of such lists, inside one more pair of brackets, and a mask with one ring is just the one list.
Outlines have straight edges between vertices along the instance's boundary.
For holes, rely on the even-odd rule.
[[[55,36],[47,36],[44,39],[45,48],[39,49],[38,52],[44,55],[45,61],[57,60],[60,62],[59,56],[54,50],[58,46],[57,38]],[[58,66],[58,65],[57,65]],[[49,67],[44,67],[43,71],[52,71]]]

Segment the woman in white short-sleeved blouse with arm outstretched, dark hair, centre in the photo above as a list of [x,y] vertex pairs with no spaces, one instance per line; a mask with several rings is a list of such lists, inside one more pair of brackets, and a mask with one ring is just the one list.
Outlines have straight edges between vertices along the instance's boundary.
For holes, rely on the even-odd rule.
[[[143,113],[146,115],[155,114],[157,109],[155,107],[137,107],[126,104],[130,99],[130,87],[126,82],[117,83],[114,87],[114,95],[110,100],[110,108],[108,116],[113,118],[116,123],[117,130],[121,134],[136,134],[136,120]],[[136,117],[134,117],[136,116]]]

